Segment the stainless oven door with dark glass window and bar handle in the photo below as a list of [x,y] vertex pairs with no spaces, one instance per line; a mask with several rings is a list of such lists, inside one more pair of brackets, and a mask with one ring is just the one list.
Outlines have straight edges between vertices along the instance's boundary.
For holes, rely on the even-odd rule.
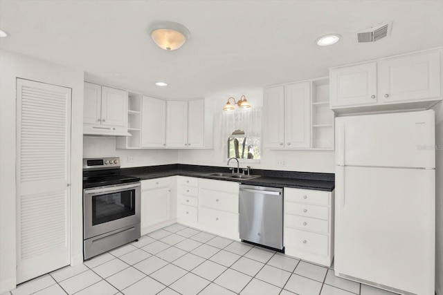
[[83,237],[140,223],[140,182],[83,191]]

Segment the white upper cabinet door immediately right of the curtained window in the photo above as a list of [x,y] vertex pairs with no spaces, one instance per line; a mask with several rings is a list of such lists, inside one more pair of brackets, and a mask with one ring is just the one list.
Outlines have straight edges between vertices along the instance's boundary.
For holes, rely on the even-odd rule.
[[263,146],[284,148],[284,86],[263,90]]

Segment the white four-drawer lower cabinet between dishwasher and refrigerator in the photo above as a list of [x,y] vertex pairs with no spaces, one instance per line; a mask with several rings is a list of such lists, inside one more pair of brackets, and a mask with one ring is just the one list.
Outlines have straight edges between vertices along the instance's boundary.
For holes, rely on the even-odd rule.
[[285,254],[329,267],[334,258],[334,191],[284,188]]

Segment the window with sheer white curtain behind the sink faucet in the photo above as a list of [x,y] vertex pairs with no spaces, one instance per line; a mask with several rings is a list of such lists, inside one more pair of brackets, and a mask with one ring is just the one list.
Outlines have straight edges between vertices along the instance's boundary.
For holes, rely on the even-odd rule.
[[221,129],[221,142],[225,143],[227,158],[235,157],[245,162],[260,160],[261,108],[221,113]]

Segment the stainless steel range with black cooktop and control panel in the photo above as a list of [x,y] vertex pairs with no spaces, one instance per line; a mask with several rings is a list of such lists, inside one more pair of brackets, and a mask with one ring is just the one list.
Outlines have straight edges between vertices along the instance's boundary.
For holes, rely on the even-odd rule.
[[140,238],[140,178],[120,174],[119,158],[83,159],[83,257]]

